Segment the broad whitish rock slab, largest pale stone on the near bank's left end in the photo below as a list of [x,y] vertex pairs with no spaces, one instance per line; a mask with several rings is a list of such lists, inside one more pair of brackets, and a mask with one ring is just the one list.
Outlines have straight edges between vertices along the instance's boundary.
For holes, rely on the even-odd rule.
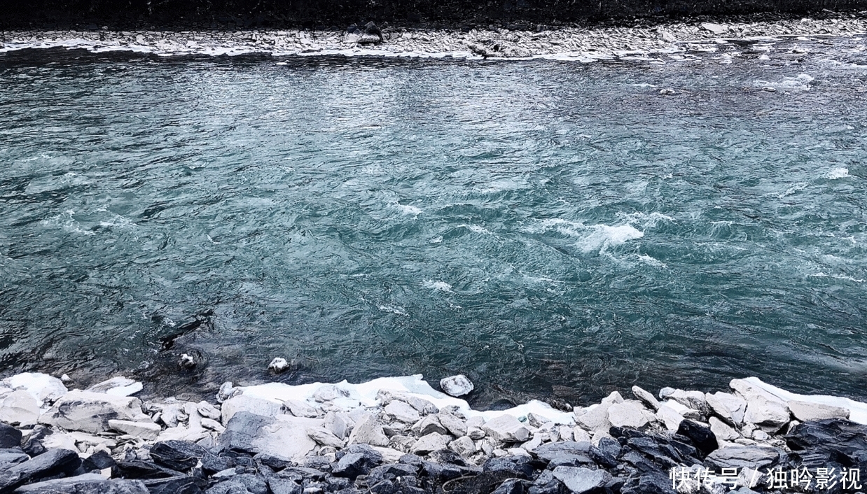
[[39,418],[39,423],[69,431],[96,433],[108,431],[108,419],[144,422],[150,417],[141,412],[138,398],[75,389],[55,401],[54,406]]

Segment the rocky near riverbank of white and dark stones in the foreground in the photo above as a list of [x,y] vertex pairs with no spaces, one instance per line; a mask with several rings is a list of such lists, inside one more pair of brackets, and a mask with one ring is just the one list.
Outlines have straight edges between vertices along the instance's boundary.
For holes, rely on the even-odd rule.
[[[462,376],[440,387],[472,392]],[[199,403],[142,402],[141,388],[0,381],[0,493],[844,492],[867,468],[867,404],[755,378],[718,393],[632,387],[570,413],[480,412],[418,375],[227,382]]]

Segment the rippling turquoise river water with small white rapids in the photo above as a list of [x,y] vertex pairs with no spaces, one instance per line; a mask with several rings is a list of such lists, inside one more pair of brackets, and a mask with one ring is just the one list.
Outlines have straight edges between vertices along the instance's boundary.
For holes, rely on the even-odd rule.
[[867,398],[867,68],[756,56],[0,55],[0,368]]

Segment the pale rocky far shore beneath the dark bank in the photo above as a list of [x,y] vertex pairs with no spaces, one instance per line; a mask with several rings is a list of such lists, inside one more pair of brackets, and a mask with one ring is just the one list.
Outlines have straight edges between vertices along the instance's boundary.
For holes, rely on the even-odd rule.
[[[512,26],[516,28],[515,26]],[[759,45],[772,55],[774,42],[794,40],[783,52],[806,53],[797,42],[867,32],[864,13],[840,13],[823,19],[739,23],[678,22],[635,27],[565,27],[542,25],[516,29],[488,26],[432,30],[375,28],[371,35],[354,26],[329,30],[114,31],[105,29],[0,32],[0,53],[27,48],[134,51],[156,55],[390,55],[467,58],[574,58],[592,61],[714,52],[723,45]],[[381,36],[380,36],[381,35]],[[791,44],[791,43],[790,43]],[[662,61],[662,59],[661,59]]]

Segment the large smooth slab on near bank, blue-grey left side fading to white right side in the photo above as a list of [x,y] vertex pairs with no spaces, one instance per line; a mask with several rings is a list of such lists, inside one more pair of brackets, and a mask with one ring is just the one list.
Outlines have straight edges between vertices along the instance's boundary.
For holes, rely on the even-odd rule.
[[304,419],[290,415],[265,417],[238,412],[226,424],[217,444],[224,449],[262,453],[274,458],[294,461],[303,458],[316,447],[316,441],[305,432],[309,427],[322,426],[323,420]]

